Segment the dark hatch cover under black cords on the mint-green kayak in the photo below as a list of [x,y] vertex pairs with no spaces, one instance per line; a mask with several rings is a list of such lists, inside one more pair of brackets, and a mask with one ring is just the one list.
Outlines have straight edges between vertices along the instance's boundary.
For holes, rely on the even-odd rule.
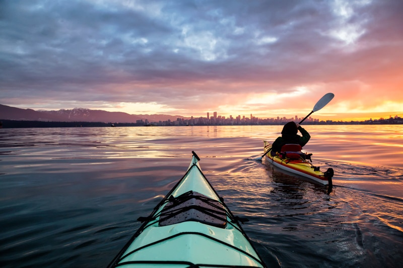
[[189,191],[178,197],[171,196],[160,214],[159,226],[185,221],[196,221],[215,227],[227,226],[227,211],[217,200]]

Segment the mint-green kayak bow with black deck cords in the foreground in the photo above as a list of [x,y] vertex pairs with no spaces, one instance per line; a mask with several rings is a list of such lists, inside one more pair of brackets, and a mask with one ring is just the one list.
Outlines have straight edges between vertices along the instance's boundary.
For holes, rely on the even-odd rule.
[[197,155],[109,267],[266,267]]

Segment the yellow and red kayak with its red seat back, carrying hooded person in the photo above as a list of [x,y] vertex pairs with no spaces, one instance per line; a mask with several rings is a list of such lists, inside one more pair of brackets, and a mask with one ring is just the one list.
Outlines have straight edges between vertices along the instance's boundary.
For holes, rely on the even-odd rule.
[[[295,144],[290,145],[294,145],[294,148],[299,146],[295,146]],[[310,180],[322,185],[328,185],[328,189],[331,192],[331,178],[333,176],[332,168],[328,168],[327,171],[322,172],[319,170],[319,167],[316,167],[307,161],[310,159],[310,155],[301,153],[300,151],[283,151],[283,148],[282,152],[272,155],[272,144],[268,141],[264,141],[264,157],[269,163],[283,170],[309,178]],[[293,146],[288,148],[293,148]]]

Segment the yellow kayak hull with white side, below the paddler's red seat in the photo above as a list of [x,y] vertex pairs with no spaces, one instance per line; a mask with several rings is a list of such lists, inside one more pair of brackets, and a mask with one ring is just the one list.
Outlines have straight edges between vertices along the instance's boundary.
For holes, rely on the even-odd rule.
[[329,168],[326,172],[322,172],[318,167],[313,166],[310,162],[302,158],[288,159],[282,158],[279,155],[273,156],[271,154],[272,144],[270,144],[268,141],[264,141],[263,150],[265,153],[265,158],[269,163],[288,172],[309,178],[310,180],[319,184],[328,185],[328,188],[331,192],[333,169]]

